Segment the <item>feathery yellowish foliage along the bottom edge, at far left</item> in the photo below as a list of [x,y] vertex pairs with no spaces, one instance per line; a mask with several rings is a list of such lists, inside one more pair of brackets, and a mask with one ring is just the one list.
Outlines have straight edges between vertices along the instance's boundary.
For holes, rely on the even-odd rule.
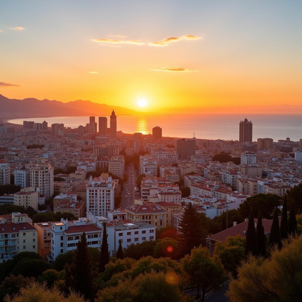
[[20,293],[5,299],[6,302],[85,302],[83,297],[73,291],[65,297],[57,288],[48,289],[45,284],[37,281],[27,283],[26,287],[21,288]]

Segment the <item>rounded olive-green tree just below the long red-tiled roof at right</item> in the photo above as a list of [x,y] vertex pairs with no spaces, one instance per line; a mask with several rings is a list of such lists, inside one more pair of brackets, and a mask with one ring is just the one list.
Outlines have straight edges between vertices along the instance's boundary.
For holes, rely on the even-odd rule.
[[237,235],[227,237],[225,242],[217,241],[213,255],[218,256],[225,271],[236,278],[237,267],[245,255],[245,239]]

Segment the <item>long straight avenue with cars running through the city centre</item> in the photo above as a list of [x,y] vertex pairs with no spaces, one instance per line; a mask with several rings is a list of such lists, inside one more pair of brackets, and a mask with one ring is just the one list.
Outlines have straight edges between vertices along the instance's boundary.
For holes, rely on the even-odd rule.
[[[140,198],[140,195],[134,191],[134,187],[137,187],[137,173],[134,172],[133,164],[129,164],[125,169],[128,175],[128,181],[124,183],[124,190],[122,191],[122,202],[120,207],[122,209],[129,207],[134,202],[134,198]],[[127,189],[127,190],[126,190]]]

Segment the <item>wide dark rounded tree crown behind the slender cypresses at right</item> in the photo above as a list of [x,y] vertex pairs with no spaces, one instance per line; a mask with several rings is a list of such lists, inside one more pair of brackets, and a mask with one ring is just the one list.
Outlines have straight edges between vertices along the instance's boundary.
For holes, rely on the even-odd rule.
[[280,196],[260,193],[246,198],[245,201],[239,204],[238,211],[244,219],[249,216],[249,211],[252,207],[255,213],[261,211],[263,218],[272,219],[275,207],[278,207],[280,204]]

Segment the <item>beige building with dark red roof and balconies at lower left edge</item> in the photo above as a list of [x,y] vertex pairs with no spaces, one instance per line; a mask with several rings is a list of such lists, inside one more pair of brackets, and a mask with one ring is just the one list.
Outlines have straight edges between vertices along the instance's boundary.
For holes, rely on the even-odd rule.
[[11,222],[0,223],[0,263],[19,252],[38,252],[37,228],[27,214],[11,213]]

